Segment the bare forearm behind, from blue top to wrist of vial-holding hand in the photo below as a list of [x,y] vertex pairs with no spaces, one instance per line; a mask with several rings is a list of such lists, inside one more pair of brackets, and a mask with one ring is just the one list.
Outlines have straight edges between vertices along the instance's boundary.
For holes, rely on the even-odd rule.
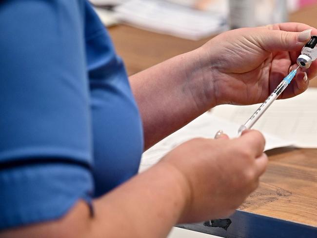
[[206,60],[199,58],[200,50],[130,77],[143,121],[145,149],[215,106],[210,95],[212,71],[202,65]]

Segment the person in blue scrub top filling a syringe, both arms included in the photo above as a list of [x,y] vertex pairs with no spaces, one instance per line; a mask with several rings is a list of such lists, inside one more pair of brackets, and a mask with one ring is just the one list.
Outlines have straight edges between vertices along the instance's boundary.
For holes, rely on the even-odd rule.
[[[0,2],[0,237],[166,237],[256,189],[258,131],[144,150],[219,104],[262,102],[317,29],[228,31],[131,77],[86,0]],[[317,63],[283,93],[304,92]]]

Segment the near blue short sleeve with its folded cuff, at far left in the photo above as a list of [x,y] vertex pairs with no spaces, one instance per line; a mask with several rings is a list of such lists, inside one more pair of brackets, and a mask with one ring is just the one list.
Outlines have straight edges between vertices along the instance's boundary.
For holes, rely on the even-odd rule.
[[0,229],[93,193],[84,5],[0,2]]

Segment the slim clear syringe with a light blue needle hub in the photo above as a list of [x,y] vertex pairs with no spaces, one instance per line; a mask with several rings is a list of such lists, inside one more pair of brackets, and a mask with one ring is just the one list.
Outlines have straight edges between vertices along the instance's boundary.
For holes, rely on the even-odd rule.
[[[297,69],[299,66],[297,67]],[[292,79],[295,77],[297,73],[297,69],[294,69],[289,73],[288,76],[286,76],[280,84],[278,84],[277,88],[273,91],[273,93],[261,104],[261,106],[258,108],[258,110],[251,116],[250,119],[247,120],[247,122],[244,123],[244,125],[241,125],[238,130],[238,135],[241,135],[241,133],[246,130],[250,129],[257,121],[258,119],[263,115],[263,113],[269,108],[269,106],[275,101],[275,99],[278,98],[278,96],[284,91],[284,89],[287,87],[287,85],[292,81]]]

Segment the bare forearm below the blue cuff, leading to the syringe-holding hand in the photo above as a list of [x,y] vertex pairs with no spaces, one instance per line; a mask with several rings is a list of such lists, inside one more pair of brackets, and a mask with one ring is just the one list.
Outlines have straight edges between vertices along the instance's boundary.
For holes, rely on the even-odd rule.
[[161,162],[93,202],[80,201],[63,218],[0,232],[0,238],[163,238],[184,211],[189,190],[179,172]]

